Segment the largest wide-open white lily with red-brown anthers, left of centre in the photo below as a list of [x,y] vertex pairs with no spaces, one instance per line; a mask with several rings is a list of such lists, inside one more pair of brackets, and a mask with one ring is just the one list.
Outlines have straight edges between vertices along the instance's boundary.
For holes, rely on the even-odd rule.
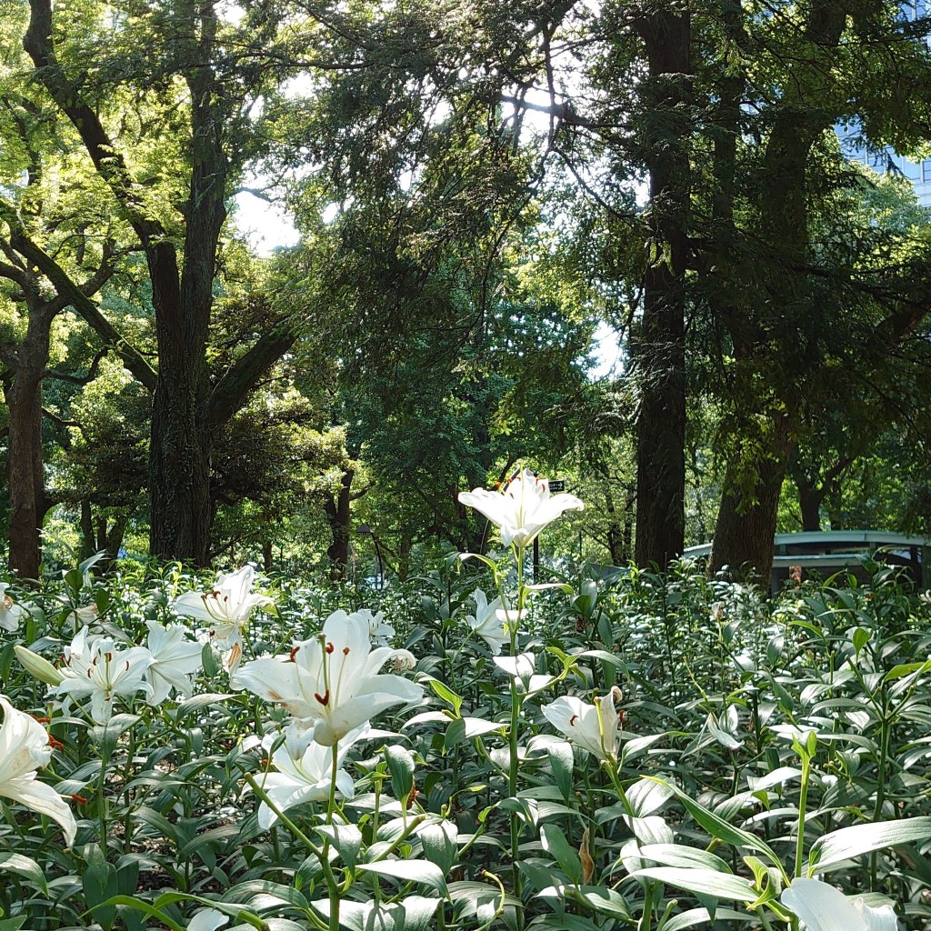
[[331,747],[386,708],[420,698],[423,690],[414,682],[378,674],[395,653],[385,646],[372,650],[368,621],[337,611],[318,637],[296,643],[290,657],[253,660],[236,681],[284,705],[298,730],[313,729],[313,739]]

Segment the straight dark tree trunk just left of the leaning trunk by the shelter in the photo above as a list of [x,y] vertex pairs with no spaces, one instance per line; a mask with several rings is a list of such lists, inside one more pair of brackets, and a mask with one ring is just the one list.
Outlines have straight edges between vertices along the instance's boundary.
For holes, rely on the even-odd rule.
[[689,213],[691,18],[657,9],[638,23],[649,77],[643,82],[642,145],[653,224],[643,317],[634,346],[637,542],[640,566],[681,555],[685,533],[685,292]]

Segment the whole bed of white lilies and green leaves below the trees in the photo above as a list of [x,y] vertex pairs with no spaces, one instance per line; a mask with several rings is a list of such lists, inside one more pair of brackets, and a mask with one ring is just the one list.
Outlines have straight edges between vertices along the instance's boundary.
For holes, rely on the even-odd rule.
[[3,587],[0,931],[931,924],[923,597],[531,585],[582,502],[462,498],[498,555],[367,604],[249,566]]

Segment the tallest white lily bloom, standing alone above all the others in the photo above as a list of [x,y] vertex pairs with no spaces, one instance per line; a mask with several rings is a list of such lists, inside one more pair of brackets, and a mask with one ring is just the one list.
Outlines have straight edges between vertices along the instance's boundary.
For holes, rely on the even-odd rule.
[[574,494],[549,493],[549,481],[524,469],[507,482],[501,492],[476,488],[461,492],[459,500],[474,507],[501,529],[501,542],[523,549],[534,537],[560,517],[563,511],[582,510],[585,504]]

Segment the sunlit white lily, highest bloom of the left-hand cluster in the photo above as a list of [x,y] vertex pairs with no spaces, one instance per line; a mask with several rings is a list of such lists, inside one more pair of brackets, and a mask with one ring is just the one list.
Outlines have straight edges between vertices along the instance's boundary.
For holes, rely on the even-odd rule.
[[254,581],[255,569],[250,565],[235,573],[217,573],[210,591],[185,592],[171,605],[176,614],[208,623],[210,637],[224,651],[223,663],[230,675],[236,672],[242,659],[242,631],[249,626],[252,612],[275,603],[267,595],[251,591]]

